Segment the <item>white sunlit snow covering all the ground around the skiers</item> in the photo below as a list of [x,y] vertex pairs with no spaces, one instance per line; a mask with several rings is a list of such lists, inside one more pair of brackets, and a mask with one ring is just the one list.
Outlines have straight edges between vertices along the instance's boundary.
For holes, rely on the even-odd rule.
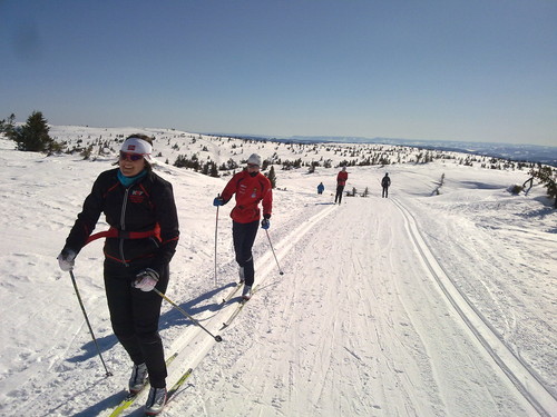
[[[453,152],[416,165],[417,150],[394,146],[338,145],[343,153],[330,143],[86,127],[52,127],[51,136],[96,143],[96,160],[0,140],[2,416],[108,416],[125,396],[131,365],[110,329],[102,244],[81,251],[75,275],[108,378],[56,256],[92,181],[113,167],[117,135],[136,131],[157,137],[156,171],[173,182],[178,207],[166,295],[223,337],[216,342],[164,302],[166,353],[179,353],[168,384],[194,368],[165,416],[557,416],[557,212],[540,186],[507,191],[527,170],[459,165]],[[110,142],[101,155],[99,138]],[[370,149],[401,161],[349,167],[346,190],[368,187],[370,197],[332,205],[338,163]],[[254,247],[258,290],[223,329],[237,306],[237,297],[222,305],[237,267],[232,205],[217,218],[212,201],[229,177],[165,160],[197,152],[221,165],[253,151],[333,167],[310,175],[275,166],[271,229]],[[389,199],[380,196],[385,171]],[[126,413],[141,415],[144,401]]]

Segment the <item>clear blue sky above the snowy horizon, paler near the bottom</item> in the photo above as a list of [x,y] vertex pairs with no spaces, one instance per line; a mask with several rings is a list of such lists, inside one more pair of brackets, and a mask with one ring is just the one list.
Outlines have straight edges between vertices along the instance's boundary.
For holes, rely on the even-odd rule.
[[0,119],[557,146],[554,0],[0,0]]

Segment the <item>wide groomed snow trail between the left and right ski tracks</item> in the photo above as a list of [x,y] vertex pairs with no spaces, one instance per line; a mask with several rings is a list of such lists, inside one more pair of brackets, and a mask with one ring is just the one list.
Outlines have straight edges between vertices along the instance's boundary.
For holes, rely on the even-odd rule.
[[538,415],[470,337],[392,201],[325,210],[289,240],[284,277],[258,276],[228,342],[167,415]]

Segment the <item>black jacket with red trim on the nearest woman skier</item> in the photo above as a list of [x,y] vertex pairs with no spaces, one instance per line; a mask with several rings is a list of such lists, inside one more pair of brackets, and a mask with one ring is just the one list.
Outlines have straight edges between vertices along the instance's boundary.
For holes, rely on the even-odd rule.
[[[135,260],[146,265],[147,261],[149,268],[160,274],[162,266],[174,256],[179,236],[173,187],[149,170],[126,188],[117,173],[118,168],[98,176],[66,240],[66,248],[79,252],[104,212],[111,231],[118,236],[106,238],[106,258],[123,265],[133,265]],[[153,236],[137,238],[136,234],[134,238],[134,232],[148,235],[149,231]]]

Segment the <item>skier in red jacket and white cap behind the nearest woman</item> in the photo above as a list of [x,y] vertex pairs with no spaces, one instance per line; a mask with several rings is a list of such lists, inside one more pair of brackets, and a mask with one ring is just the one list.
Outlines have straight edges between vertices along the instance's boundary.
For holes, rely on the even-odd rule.
[[268,229],[273,207],[273,191],[271,181],[260,172],[261,157],[253,153],[247,159],[247,167],[236,173],[228,181],[221,196],[216,197],[213,206],[224,206],[233,195],[236,195],[236,206],[231,211],[232,236],[236,262],[240,266],[240,280],[244,281],[242,297],[248,300],[252,297],[252,286],[255,278],[252,247],[257,235],[261,218],[260,201],[263,203],[263,221],[261,227]]

